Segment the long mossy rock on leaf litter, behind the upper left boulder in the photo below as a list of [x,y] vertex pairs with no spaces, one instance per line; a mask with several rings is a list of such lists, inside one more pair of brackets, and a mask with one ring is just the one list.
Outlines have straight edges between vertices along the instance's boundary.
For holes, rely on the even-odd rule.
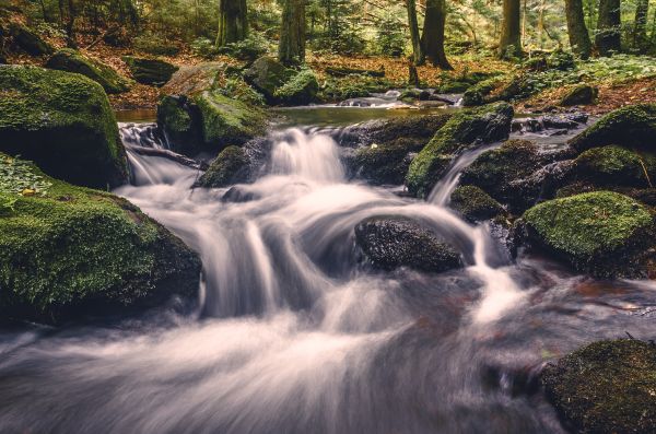
[[114,69],[87,58],[74,49],[65,48],[57,51],[48,59],[46,68],[85,75],[99,83],[107,93],[121,93],[130,90],[130,82]]

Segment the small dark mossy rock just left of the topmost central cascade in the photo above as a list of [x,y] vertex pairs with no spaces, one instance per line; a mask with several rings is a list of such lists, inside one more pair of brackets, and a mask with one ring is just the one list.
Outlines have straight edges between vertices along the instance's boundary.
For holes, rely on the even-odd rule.
[[245,183],[249,178],[249,160],[239,146],[227,146],[194,187],[223,188],[233,184]]

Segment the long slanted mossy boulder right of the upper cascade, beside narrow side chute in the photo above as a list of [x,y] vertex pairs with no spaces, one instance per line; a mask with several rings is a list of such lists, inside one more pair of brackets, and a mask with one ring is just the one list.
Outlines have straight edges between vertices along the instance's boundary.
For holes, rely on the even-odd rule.
[[406,176],[408,190],[418,197],[429,195],[460,152],[507,138],[513,114],[511,105],[497,103],[454,115],[412,160]]

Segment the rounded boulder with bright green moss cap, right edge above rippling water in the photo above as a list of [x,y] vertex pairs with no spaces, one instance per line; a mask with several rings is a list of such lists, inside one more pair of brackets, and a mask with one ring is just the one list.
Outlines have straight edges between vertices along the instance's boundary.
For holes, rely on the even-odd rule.
[[644,277],[654,255],[654,218],[634,199],[595,191],[540,203],[524,213],[529,244],[601,278]]

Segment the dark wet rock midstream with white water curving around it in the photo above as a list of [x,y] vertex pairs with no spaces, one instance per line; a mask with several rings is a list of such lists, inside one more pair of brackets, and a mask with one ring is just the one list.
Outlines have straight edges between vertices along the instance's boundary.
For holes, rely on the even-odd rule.
[[363,220],[355,226],[355,243],[377,269],[443,272],[461,267],[460,255],[452,246],[405,216]]

